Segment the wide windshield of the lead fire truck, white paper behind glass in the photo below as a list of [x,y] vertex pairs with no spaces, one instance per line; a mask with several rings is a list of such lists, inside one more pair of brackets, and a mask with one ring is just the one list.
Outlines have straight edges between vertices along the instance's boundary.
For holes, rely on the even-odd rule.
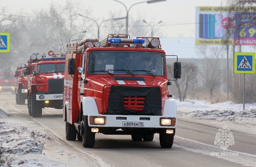
[[92,51],[88,57],[89,74],[165,75],[164,55],[156,52]]

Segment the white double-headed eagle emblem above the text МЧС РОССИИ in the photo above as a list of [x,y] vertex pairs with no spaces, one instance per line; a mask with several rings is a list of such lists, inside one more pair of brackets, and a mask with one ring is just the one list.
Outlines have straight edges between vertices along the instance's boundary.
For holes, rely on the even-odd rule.
[[222,125],[222,129],[220,128],[214,140],[214,145],[217,147],[222,148],[224,151],[228,148],[229,145],[235,145],[233,134],[230,131],[230,129],[227,129],[227,125]]

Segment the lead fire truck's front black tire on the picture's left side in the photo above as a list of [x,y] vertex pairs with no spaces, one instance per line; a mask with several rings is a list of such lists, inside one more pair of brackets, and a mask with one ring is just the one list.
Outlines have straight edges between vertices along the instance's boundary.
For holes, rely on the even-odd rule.
[[92,128],[88,125],[87,116],[83,115],[83,135],[82,135],[82,144],[85,148],[92,148],[95,144],[95,133],[92,132]]

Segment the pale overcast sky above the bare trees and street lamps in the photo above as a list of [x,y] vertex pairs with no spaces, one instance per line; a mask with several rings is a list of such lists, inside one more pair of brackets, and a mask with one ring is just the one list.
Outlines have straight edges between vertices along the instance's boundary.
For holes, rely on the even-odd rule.
[[[119,0],[129,9],[130,6],[143,0]],[[65,0],[0,0],[0,7],[8,6],[10,12],[26,11],[32,13],[40,8],[48,8],[51,2],[65,4]],[[91,15],[98,18],[100,23],[103,19],[109,19],[109,11],[119,12],[126,16],[125,7],[113,0],[81,0],[81,5],[92,9]],[[163,37],[195,37],[195,10],[196,6],[220,6],[221,0],[167,0],[154,4],[136,4],[129,11],[129,17],[136,18],[138,12],[145,14],[145,19],[150,25],[163,20]],[[155,22],[150,22],[156,18]],[[176,24],[176,25],[174,25]],[[177,25],[183,24],[183,25]],[[155,26],[154,28],[157,28]],[[97,34],[97,30],[95,30]],[[149,32],[150,34],[150,32]]]

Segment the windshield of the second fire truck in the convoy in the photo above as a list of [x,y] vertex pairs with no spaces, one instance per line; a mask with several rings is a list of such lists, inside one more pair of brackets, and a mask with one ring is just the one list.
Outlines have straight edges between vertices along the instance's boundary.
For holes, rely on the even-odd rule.
[[65,63],[57,63],[57,69],[56,69],[55,63],[38,65],[39,73],[64,72],[64,70],[65,70]]

